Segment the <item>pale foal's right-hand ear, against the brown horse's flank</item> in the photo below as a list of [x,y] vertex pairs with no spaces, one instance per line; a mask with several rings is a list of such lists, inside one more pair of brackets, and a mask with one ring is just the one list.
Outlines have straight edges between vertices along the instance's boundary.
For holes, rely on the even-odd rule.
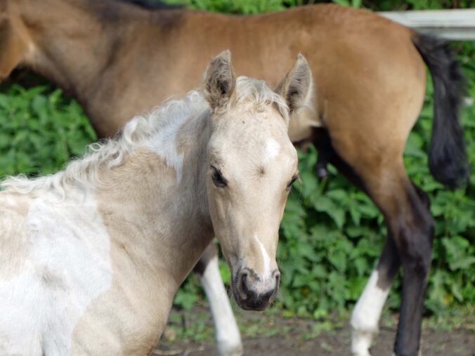
[[289,107],[289,114],[292,115],[302,107],[311,105],[312,92],[312,71],[308,67],[304,55],[299,53],[292,69],[275,88],[275,93],[285,99],[285,103]]

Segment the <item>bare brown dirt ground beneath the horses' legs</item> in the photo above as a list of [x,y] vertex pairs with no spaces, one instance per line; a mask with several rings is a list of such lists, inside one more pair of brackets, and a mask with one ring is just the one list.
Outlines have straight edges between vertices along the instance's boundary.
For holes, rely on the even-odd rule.
[[[201,313],[201,312],[200,312]],[[349,330],[339,327],[312,335],[314,320],[299,318],[270,317],[271,322],[263,324],[254,314],[240,315],[239,324],[251,325],[257,321],[254,336],[247,336],[244,329],[243,341],[246,356],[349,356]],[[266,316],[268,318],[268,316]],[[261,319],[263,319],[261,317]],[[261,320],[260,319],[260,320]],[[192,321],[193,322],[193,321]],[[254,324],[254,327],[256,325]],[[167,334],[152,353],[154,356],[209,356],[216,355],[212,340],[212,324],[207,322],[209,334],[204,341],[167,341]],[[245,327],[245,328],[246,328]],[[475,356],[475,333],[472,326],[452,331],[434,331],[424,328],[422,333],[422,355],[424,356]],[[272,336],[263,336],[267,334]],[[372,347],[374,356],[390,356],[396,327],[381,327]]]

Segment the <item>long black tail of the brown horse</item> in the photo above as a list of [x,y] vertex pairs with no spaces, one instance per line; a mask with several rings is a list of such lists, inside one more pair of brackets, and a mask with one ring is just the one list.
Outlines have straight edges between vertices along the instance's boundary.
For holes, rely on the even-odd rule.
[[429,169],[439,182],[455,188],[467,181],[469,164],[459,124],[464,77],[446,41],[417,35],[413,42],[426,62],[434,83],[434,123]]

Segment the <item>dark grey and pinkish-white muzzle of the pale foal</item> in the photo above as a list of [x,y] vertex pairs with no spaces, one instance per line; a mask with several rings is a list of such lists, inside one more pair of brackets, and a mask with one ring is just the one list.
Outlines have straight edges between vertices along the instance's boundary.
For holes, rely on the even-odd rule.
[[254,270],[242,268],[233,279],[233,294],[237,304],[245,310],[264,310],[275,299],[279,289],[280,272],[262,279]]

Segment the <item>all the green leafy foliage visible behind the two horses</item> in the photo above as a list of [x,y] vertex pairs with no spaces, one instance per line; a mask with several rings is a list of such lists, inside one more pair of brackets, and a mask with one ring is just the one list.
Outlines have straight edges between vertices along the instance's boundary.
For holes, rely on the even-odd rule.
[[[363,1],[339,0],[346,5],[381,10],[394,8],[447,7],[434,0]],[[429,1],[429,2],[427,2]],[[276,11],[305,1],[280,0],[187,0],[194,8],[229,13]],[[434,4],[435,5],[434,5]],[[470,1],[460,1],[469,6]],[[467,5],[468,4],[468,5]],[[451,5],[450,5],[451,6]],[[457,44],[459,60],[468,79],[467,105],[462,125],[469,161],[475,162],[475,45]],[[49,86],[22,88],[13,85],[0,91],[0,175],[52,173],[71,157],[82,154],[95,140],[79,105]],[[429,81],[422,113],[405,147],[405,166],[417,185],[429,193],[436,220],[434,261],[426,308],[439,315],[475,302],[475,176],[462,190],[445,190],[429,174],[427,148],[432,125],[432,88]],[[325,317],[345,313],[356,301],[377,262],[386,228],[384,220],[366,195],[330,167],[330,177],[320,183],[313,172],[314,147],[299,152],[301,183],[297,183],[285,209],[278,262],[281,289],[275,308],[286,315]],[[230,275],[220,262],[225,282]],[[394,284],[390,307],[400,302],[401,279]],[[191,276],[178,292],[175,303],[190,308],[203,298],[197,278]]]

